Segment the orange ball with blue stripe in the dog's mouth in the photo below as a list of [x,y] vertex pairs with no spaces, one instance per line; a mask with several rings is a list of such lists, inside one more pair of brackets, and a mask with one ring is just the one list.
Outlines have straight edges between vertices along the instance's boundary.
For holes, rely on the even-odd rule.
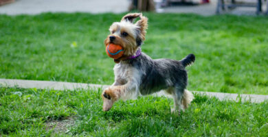
[[124,54],[123,47],[120,45],[114,45],[113,43],[106,46],[106,53],[110,58],[118,59]]

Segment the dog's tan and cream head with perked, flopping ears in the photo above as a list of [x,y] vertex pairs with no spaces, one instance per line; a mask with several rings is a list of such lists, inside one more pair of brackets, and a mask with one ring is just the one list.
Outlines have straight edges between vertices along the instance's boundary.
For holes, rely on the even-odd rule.
[[[140,19],[134,23],[135,18]],[[109,29],[111,34],[104,40],[104,45],[109,45],[109,43],[121,45],[124,49],[122,58],[135,55],[138,47],[145,40],[147,21],[148,18],[142,16],[142,13],[126,14],[120,22],[111,25]]]

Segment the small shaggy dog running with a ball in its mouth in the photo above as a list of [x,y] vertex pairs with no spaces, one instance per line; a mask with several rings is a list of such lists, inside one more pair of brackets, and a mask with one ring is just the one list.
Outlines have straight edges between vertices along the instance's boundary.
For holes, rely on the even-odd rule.
[[[135,18],[139,18],[136,23]],[[147,28],[148,18],[142,13],[126,14],[120,22],[111,25],[111,34],[104,40],[104,45],[121,45],[124,55],[114,60],[115,82],[102,92],[103,111],[109,111],[119,99],[135,99],[139,95],[150,95],[160,90],[172,95],[172,112],[188,108],[194,98],[186,90],[188,75],[185,68],[194,62],[195,56],[189,54],[180,61],[153,60],[141,49]]]

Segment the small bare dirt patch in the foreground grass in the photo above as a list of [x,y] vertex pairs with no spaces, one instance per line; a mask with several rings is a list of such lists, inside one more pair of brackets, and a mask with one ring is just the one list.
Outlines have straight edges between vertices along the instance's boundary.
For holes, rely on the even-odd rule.
[[47,130],[53,129],[55,133],[69,132],[69,127],[74,125],[74,118],[67,118],[61,121],[49,121],[46,123]]

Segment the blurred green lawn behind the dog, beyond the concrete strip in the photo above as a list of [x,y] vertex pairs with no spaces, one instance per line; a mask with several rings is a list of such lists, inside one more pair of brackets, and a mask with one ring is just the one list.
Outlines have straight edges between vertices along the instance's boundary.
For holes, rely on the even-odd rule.
[[[123,15],[0,15],[0,77],[112,84],[114,62],[103,42]],[[174,60],[196,55],[189,90],[268,94],[267,17],[144,15],[145,53]]]

